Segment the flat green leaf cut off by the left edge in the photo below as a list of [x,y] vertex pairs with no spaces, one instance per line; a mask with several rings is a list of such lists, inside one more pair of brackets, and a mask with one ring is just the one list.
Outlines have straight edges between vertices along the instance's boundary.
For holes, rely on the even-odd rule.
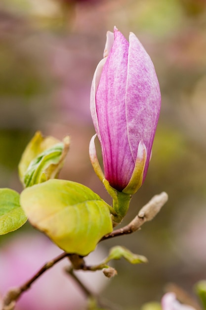
[[0,189],[0,235],[20,228],[27,217],[19,204],[19,194],[8,188]]

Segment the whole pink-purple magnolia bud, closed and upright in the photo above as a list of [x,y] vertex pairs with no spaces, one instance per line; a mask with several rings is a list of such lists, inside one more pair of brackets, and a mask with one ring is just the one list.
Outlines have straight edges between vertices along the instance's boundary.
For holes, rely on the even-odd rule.
[[161,94],[155,68],[133,33],[129,42],[114,29],[107,32],[104,58],[91,86],[90,109],[103,156],[97,160],[94,137],[89,154],[99,178],[134,194],[147,174],[158,123]]

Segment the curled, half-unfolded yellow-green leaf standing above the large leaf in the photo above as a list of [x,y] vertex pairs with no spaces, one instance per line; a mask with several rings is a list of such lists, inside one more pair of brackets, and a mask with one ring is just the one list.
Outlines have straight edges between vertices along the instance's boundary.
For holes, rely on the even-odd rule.
[[19,163],[19,176],[24,187],[56,178],[69,150],[69,137],[63,142],[37,132],[26,147]]

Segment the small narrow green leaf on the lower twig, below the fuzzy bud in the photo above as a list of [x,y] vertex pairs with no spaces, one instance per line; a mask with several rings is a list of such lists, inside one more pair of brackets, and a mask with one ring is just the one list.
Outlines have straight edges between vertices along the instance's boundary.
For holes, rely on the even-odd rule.
[[111,259],[125,258],[128,262],[132,264],[138,264],[141,262],[147,262],[147,258],[142,255],[136,255],[127,250],[124,247],[116,246],[110,249],[109,256],[104,262],[108,262]]

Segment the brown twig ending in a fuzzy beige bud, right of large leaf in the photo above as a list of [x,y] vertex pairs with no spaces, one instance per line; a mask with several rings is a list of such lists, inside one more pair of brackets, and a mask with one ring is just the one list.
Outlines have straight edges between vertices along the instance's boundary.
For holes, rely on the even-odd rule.
[[105,235],[100,241],[110,239],[117,236],[131,234],[134,231],[140,229],[142,224],[147,221],[151,221],[161,210],[168,200],[168,195],[163,192],[160,195],[155,195],[148,204],[141,208],[137,216],[123,228],[114,230],[108,235]]

